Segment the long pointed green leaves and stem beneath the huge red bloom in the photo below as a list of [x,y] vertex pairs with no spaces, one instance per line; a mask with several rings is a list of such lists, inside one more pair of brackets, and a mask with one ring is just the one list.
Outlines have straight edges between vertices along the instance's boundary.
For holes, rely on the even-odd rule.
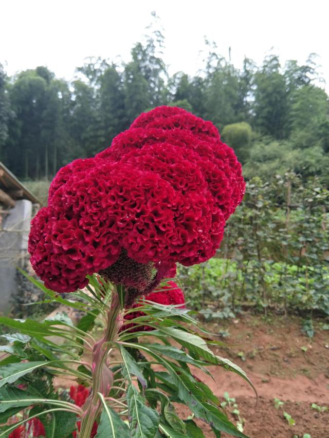
[[[210,374],[207,368],[217,365],[250,381],[243,370],[214,354],[206,342],[209,333],[187,309],[141,301],[142,316],[125,320],[124,313],[131,310],[121,309],[114,286],[108,283],[104,288],[95,275],[90,277],[88,293],[71,293],[69,300],[57,296],[39,281],[33,278],[31,281],[39,285],[50,301],[69,303],[84,310],[85,316],[76,324],[65,313],[43,321],[0,317],[0,324],[17,330],[4,335],[10,342],[4,351],[14,361],[0,363],[0,422],[6,423],[16,415],[16,423],[3,426],[0,437],[8,436],[29,418],[39,417],[47,437],[69,438],[76,429],[76,422],[83,417],[89,418],[89,423],[82,419],[81,437],[90,436],[86,425],[97,420],[99,438],[119,435],[202,438],[202,430],[192,420],[179,418],[172,402],[187,405],[196,418],[212,425],[216,436],[225,431],[232,436],[246,437],[237,406],[232,406],[238,420],[235,427],[218,398],[192,371],[197,367]],[[74,301],[77,298],[79,301]],[[104,330],[100,341],[90,333],[95,317]],[[118,332],[118,321],[122,320],[124,324]],[[154,327],[152,336],[156,341],[149,342],[150,332],[125,330],[125,324],[132,322]],[[197,334],[202,330],[205,336]],[[171,345],[171,339],[178,347]],[[89,354],[84,355],[83,349]],[[116,349],[117,354],[108,356],[109,349]],[[140,354],[131,354],[131,351]],[[119,355],[121,360],[118,361]],[[112,362],[111,357],[116,360]],[[73,404],[65,391],[53,387],[53,377],[58,375],[74,376],[77,382],[93,388],[83,408]],[[112,389],[108,387],[109,382]],[[22,411],[23,420],[17,421]]]

